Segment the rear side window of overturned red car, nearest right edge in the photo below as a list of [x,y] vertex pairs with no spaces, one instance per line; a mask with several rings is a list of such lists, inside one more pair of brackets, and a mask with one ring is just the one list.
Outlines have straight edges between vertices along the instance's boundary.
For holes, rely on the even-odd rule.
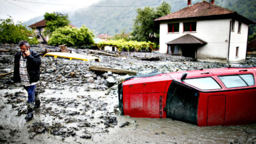
[[225,75],[219,76],[225,87],[249,87],[254,85],[254,76],[252,74],[243,75]]

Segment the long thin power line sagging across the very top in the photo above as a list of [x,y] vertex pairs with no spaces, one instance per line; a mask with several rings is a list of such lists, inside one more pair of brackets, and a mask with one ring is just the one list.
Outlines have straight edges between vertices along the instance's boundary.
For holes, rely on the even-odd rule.
[[[51,4],[51,5],[59,5],[59,6],[79,6],[79,7],[142,7],[142,6],[81,6],[81,5],[74,5],[74,4],[57,4],[57,3],[47,3],[47,2],[38,2],[38,1],[22,1],[22,0],[10,0],[10,1],[29,2],[29,3],[38,3],[38,4]],[[148,6],[159,6],[159,4],[148,5]]]

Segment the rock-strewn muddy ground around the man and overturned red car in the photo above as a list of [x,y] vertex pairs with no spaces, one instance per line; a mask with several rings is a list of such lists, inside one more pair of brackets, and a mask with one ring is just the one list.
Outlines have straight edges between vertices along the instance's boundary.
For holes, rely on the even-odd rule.
[[[17,45],[0,49],[0,74],[13,70]],[[40,54],[57,47],[31,46]],[[26,90],[14,84],[12,74],[0,77],[0,143],[255,143],[256,125],[197,127],[170,118],[131,118],[117,107],[117,84],[129,75],[88,71],[90,65],[135,70],[209,69],[224,64],[199,62],[190,58],[153,53],[121,52],[120,57],[95,54],[94,50],[71,49],[73,53],[95,55],[101,62],[42,59],[37,84],[41,107],[26,122]],[[159,57],[157,61],[138,57]],[[246,65],[255,64],[245,62]]]

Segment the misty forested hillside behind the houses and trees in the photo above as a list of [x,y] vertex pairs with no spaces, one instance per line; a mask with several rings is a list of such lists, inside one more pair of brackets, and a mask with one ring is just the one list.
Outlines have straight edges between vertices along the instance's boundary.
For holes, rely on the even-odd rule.
[[[94,34],[96,35],[106,33],[114,36],[114,34],[120,33],[121,30],[124,30],[126,33],[132,31],[134,19],[137,15],[135,9],[139,7],[144,8],[145,6],[156,7],[163,1],[164,0],[102,0],[91,7],[76,9],[68,15],[71,24],[74,26],[81,27],[84,24],[89,27],[89,29],[94,30]],[[172,7],[172,12],[187,6],[187,0],[165,1]],[[200,1],[201,0],[192,0],[192,4]],[[241,4],[241,1],[215,0],[215,4],[219,6],[238,11],[242,15],[245,12],[245,15],[249,16],[248,12],[246,13],[246,11],[239,9],[239,6],[237,5],[234,6],[234,3]],[[252,8],[255,9],[255,7]],[[252,19],[252,16],[249,18]],[[34,19],[27,21],[26,24],[29,26],[41,19],[42,16],[35,17]],[[255,21],[255,17],[252,20]]]

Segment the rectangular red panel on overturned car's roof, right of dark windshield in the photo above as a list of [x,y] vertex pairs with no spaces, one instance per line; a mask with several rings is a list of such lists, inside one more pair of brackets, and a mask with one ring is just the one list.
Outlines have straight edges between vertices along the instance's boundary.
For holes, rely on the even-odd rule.
[[208,97],[207,125],[224,125],[225,95],[210,95]]

